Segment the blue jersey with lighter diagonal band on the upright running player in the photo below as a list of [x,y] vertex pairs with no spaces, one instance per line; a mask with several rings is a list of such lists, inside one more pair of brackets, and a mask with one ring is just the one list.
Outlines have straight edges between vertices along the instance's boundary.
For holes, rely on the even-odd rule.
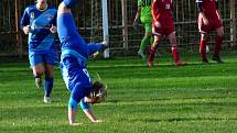
[[45,54],[56,53],[55,35],[50,27],[56,25],[56,9],[49,7],[41,11],[35,5],[28,7],[21,19],[21,29],[30,25],[29,53]]

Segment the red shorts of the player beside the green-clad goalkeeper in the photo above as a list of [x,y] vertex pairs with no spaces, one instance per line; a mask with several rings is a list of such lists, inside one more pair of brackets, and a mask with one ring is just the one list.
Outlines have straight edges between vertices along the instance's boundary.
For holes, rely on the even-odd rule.
[[172,19],[160,19],[159,22],[161,23],[161,27],[157,27],[154,22],[152,23],[152,33],[154,35],[170,35],[171,33],[175,32],[174,22]]

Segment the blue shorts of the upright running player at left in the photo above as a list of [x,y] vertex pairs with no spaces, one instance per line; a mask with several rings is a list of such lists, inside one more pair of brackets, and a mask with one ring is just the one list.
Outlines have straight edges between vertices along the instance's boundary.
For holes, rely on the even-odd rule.
[[29,60],[31,66],[35,66],[39,64],[50,64],[53,66],[58,65],[58,55],[57,53],[49,53],[49,54],[34,54],[29,53]]

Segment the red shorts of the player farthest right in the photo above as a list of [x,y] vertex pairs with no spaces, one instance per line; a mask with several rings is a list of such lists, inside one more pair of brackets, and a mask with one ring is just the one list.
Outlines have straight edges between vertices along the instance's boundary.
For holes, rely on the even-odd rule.
[[214,31],[214,30],[223,26],[222,21],[219,20],[218,15],[216,13],[209,13],[209,14],[205,14],[205,15],[208,20],[207,25],[205,25],[203,23],[203,19],[201,16],[198,16],[198,29],[200,29],[201,33],[208,33],[211,31]]

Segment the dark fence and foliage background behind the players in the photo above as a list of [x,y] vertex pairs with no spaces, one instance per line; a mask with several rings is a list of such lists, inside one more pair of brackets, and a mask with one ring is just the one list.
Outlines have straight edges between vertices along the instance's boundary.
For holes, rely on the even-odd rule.
[[[49,0],[55,7],[62,0]],[[24,9],[34,4],[35,0],[1,0],[0,1],[0,57],[28,55],[28,36],[20,30],[20,19]],[[107,0],[109,46],[111,56],[137,55],[143,29],[132,29],[137,12],[137,0]],[[182,53],[198,54],[200,33],[197,29],[197,9],[195,0],[175,0],[174,20],[176,36]],[[237,2],[219,0],[219,9],[225,27],[223,52],[235,53]],[[80,34],[88,42],[103,41],[103,3],[101,0],[85,0],[74,8],[74,18]],[[214,34],[211,34],[208,46],[212,49]],[[60,43],[57,41],[60,51]],[[168,53],[170,45],[164,41],[159,53]],[[147,46],[147,51],[149,46]]]

